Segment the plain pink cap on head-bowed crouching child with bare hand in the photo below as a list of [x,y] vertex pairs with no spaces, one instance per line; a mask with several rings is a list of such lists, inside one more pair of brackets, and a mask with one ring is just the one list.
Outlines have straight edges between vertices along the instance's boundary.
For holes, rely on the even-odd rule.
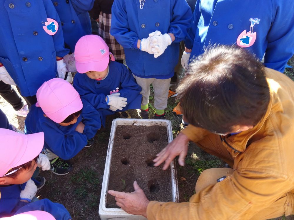
[[36,106],[41,107],[46,116],[56,123],[83,108],[80,95],[64,79],[54,78],[44,82],[36,95]]

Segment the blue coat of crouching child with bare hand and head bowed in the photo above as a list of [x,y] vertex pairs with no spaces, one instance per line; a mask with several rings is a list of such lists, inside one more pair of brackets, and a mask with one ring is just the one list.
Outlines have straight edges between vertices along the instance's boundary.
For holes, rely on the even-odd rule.
[[[41,108],[31,106],[26,116],[26,134],[44,132],[44,148],[48,148],[64,160],[73,158],[80,152],[87,140],[93,138],[101,127],[100,114],[86,100],[83,100],[82,114],[78,121],[69,126],[61,126],[49,118],[44,117]],[[83,133],[75,131],[78,123],[83,122],[85,128]]]

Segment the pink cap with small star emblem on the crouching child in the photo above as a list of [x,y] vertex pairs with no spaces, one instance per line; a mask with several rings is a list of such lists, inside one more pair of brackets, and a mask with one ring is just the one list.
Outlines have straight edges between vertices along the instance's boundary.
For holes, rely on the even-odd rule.
[[[93,34],[83,36],[78,40],[74,49],[76,70],[79,73],[102,72],[108,66],[110,54],[112,55],[101,37]],[[111,60],[114,61],[113,55]]]

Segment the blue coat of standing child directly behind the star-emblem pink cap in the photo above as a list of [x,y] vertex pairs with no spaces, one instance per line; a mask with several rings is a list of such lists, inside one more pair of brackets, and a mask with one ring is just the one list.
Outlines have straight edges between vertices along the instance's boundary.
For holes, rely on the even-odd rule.
[[84,35],[92,34],[88,11],[95,0],[51,0],[59,15],[64,42],[74,52],[76,42]]

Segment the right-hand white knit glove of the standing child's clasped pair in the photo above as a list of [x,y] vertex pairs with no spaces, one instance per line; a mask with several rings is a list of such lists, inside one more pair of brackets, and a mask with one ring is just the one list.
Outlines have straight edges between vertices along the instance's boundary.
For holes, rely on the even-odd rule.
[[[154,41],[156,39],[156,41]],[[161,34],[151,38],[151,48],[153,48],[154,58],[159,57],[171,45],[171,36],[169,34]]]

